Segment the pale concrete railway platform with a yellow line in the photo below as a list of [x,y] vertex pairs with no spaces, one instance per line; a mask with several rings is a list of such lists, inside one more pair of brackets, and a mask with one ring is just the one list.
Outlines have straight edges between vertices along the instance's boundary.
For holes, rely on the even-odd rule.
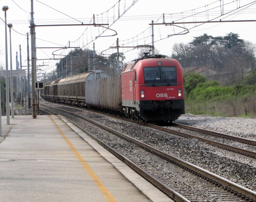
[[2,117],[0,201],[172,201],[62,116]]

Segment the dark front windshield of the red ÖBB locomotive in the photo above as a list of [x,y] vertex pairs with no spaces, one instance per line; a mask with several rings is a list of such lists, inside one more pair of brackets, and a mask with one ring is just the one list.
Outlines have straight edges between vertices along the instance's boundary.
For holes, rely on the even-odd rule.
[[177,83],[176,66],[171,67],[144,67],[145,84],[172,84]]

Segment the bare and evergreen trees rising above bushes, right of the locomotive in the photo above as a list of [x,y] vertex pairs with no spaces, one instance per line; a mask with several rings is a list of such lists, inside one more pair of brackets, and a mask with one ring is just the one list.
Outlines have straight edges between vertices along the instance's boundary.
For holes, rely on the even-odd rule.
[[239,39],[239,35],[233,32],[224,37],[203,34],[188,44],[174,44],[172,47],[172,58],[181,58],[182,67],[211,65],[213,70],[221,73],[219,81],[229,85],[241,84],[256,67],[255,53],[255,44]]

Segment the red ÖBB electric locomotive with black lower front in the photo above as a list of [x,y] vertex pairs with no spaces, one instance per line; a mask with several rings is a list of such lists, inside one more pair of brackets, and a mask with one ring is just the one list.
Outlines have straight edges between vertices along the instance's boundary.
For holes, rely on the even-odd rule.
[[125,65],[121,73],[123,113],[145,121],[173,121],[185,113],[180,63],[148,55]]

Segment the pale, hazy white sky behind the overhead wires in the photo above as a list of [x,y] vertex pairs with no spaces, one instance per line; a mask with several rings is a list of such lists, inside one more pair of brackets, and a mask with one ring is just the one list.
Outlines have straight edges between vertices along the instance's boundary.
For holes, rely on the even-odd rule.
[[[119,52],[123,52],[126,57],[125,62],[129,62],[137,58],[140,51],[140,49],[132,47],[152,45],[152,26],[149,25],[152,20],[157,24],[171,23],[172,21],[181,23],[175,24],[176,26],[154,25],[154,46],[158,53],[168,56],[172,54],[174,43],[186,44],[191,42],[193,37],[204,33],[216,37],[233,32],[237,33],[240,39],[256,44],[256,21],[199,23],[201,21],[220,21],[220,19],[222,21],[256,20],[256,1],[120,0],[119,3],[117,2],[118,0],[33,0],[36,47],[38,47],[36,56],[37,59],[40,59],[37,60],[37,65],[44,65],[40,68],[46,72],[53,71],[59,60],[49,60],[49,58],[65,57],[74,47],[93,49],[93,43],[95,43],[95,51],[98,54],[102,52],[108,56],[108,54],[117,52],[116,48],[110,48],[116,47],[117,38],[119,39]],[[27,32],[29,34],[30,51],[31,1],[0,0],[1,8],[4,5],[9,7],[9,10],[6,11],[7,24],[12,23],[13,25],[11,30],[12,69],[16,69],[16,52],[18,61],[20,61],[19,45],[22,66],[27,66],[26,34]],[[95,23],[101,24],[101,27],[81,25],[82,23],[92,24],[93,14],[95,14]],[[0,12],[0,18],[5,19],[4,11]],[[0,67],[3,66],[5,69],[5,24],[2,19],[0,19]],[[188,22],[192,23],[188,24]],[[102,26],[109,27],[109,29]],[[117,35],[112,36],[116,33]],[[10,69],[9,34],[7,27],[8,69]],[[96,36],[100,37],[96,39]],[[65,46],[71,48],[61,49]],[[26,67],[23,68],[26,69]]]

